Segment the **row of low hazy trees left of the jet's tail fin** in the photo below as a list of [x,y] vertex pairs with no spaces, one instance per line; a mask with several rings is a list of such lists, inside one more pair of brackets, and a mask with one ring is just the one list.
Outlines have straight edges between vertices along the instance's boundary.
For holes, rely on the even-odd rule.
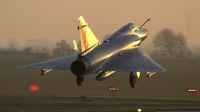
[[73,47],[71,47],[66,40],[57,42],[53,49],[48,49],[46,47],[25,47],[19,49],[15,46],[15,43],[9,44],[7,48],[0,47],[0,57],[62,57],[65,55],[71,55],[74,52]]

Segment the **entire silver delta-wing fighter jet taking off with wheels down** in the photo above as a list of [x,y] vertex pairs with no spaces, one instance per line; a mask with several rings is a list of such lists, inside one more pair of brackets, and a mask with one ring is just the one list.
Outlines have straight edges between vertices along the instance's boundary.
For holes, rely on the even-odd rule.
[[[51,70],[71,70],[77,77],[78,86],[83,85],[84,77],[87,74],[96,74],[96,80],[102,81],[117,72],[129,72],[130,86],[134,88],[140,72],[144,72],[147,77],[150,77],[156,72],[165,71],[140,51],[139,46],[148,35],[148,30],[142,26],[138,27],[133,23],[128,23],[100,43],[88,23],[80,16],[77,28],[80,33],[80,53],[22,68],[41,69],[41,75]],[[74,49],[77,50],[76,42],[74,42]]]

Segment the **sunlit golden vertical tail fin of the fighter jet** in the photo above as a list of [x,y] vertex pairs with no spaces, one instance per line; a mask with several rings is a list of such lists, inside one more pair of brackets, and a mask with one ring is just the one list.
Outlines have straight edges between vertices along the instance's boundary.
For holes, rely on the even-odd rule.
[[78,30],[82,52],[99,42],[82,16],[78,18]]

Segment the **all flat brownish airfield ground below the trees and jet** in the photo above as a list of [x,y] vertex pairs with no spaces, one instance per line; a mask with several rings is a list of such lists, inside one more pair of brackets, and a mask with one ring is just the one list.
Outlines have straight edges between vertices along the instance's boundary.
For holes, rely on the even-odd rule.
[[[78,87],[70,71],[55,70],[41,76],[39,70],[19,69],[39,61],[0,60],[0,112],[200,110],[200,93],[187,91],[199,90],[200,60],[158,60],[168,71],[151,78],[141,75],[136,88],[130,88],[128,74],[123,72],[100,82],[95,75],[88,75],[84,86]],[[37,92],[29,90],[33,84],[39,86]],[[108,87],[119,88],[115,99]],[[81,101],[81,96],[86,99]]]

